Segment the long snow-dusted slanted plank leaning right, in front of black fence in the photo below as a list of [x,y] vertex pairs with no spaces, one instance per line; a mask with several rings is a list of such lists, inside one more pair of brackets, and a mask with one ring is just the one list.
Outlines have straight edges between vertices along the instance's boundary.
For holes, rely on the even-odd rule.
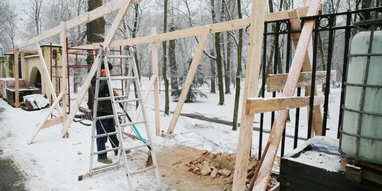
[[[317,15],[320,3],[320,0],[313,0],[309,7],[307,16]],[[296,51],[292,60],[292,65],[289,70],[290,75],[287,78],[283,90],[283,97],[291,97],[294,95],[297,86],[298,76],[303,67],[304,58],[307,53],[309,41],[312,37],[313,28],[314,19],[305,20],[304,27],[301,32],[301,37],[298,41]],[[265,188],[267,187],[270,171],[275,161],[276,153],[281,141],[281,136],[284,131],[287,114],[288,110],[277,111],[275,114],[275,121],[272,125],[267,143],[269,144],[268,152],[266,154],[263,154],[263,163],[260,167],[259,174],[255,181],[255,190],[265,190]]]

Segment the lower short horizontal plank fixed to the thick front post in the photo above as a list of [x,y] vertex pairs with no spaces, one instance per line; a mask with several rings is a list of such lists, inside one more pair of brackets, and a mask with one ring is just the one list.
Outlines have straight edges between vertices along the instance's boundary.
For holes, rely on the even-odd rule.
[[[322,105],[325,96],[314,96],[313,105]],[[329,97],[329,103],[334,103],[335,97]],[[279,110],[309,106],[310,96],[304,97],[272,97],[272,98],[248,98],[245,114],[261,114]]]

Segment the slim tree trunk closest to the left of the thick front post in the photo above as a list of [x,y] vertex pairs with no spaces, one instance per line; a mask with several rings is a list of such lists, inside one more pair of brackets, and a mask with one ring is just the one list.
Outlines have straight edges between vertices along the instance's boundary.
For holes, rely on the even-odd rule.
[[[237,13],[239,19],[241,15],[241,2],[237,0]],[[237,117],[239,112],[239,99],[240,99],[240,76],[241,76],[241,51],[243,47],[243,30],[239,29],[239,43],[237,45],[237,70],[236,70],[236,90],[235,90],[235,103],[233,109],[233,122],[232,130],[237,130]]]

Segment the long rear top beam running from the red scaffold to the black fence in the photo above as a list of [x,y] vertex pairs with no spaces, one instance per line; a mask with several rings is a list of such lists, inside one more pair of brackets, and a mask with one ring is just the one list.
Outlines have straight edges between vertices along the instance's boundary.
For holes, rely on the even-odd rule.
[[[309,6],[306,6],[306,7],[298,8],[297,10],[299,15],[304,17],[306,16],[308,9],[309,9]],[[288,19],[289,18],[288,11],[290,10],[265,14],[265,21]],[[133,39],[117,40],[117,41],[113,41],[110,46],[126,46],[126,45],[144,44],[144,43],[152,43],[152,42],[168,41],[168,40],[187,38],[187,37],[194,37],[194,36],[202,35],[205,27],[211,29],[211,33],[238,30],[238,29],[246,28],[250,24],[250,20],[251,18],[242,18],[242,19],[236,19],[236,20],[220,22],[215,24],[208,24],[205,26],[198,26],[195,28],[184,29],[184,30],[170,32],[170,33],[163,33],[163,34],[146,36],[146,37],[138,37]],[[100,43],[77,46],[77,47],[73,47],[73,49],[69,51],[78,51],[78,50],[75,50],[74,48],[95,49],[95,48],[98,48],[99,45]]]

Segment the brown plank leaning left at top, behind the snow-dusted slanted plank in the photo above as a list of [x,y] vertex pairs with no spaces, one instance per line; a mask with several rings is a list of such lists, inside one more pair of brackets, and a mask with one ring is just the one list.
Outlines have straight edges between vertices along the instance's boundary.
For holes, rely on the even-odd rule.
[[[307,2],[304,2],[304,5],[307,5]],[[320,5],[321,8],[321,5]],[[300,31],[301,30],[301,21],[300,21],[300,14],[297,10],[292,10],[288,12],[289,15],[289,21],[291,23],[291,30],[292,31]],[[300,39],[301,33],[293,33],[291,34],[294,48],[297,47],[298,40]],[[313,46],[312,46],[312,39],[309,40],[308,49],[306,52],[306,57],[304,58],[304,64],[302,71],[303,72],[311,72],[312,71],[312,63],[313,63]],[[310,96],[311,94],[311,87],[306,86],[305,87],[305,95]],[[314,87],[314,95],[317,94],[317,88]],[[309,110],[310,108],[307,107],[307,118],[309,119]],[[313,137],[313,133],[316,135],[322,135],[322,114],[321,114],[321,107],[319,105],[313,106],[313,116],[312,116],[312,126],[313,131],[311,134],[311,137]]]

